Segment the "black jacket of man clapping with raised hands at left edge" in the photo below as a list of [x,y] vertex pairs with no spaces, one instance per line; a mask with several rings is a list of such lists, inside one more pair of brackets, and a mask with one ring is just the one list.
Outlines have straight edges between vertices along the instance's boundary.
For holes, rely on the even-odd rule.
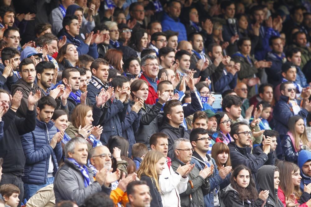
[[19,118],[9,109],[2,117],[4,136],[0,140],[0,157],[3,158],[2,173],[24,174],[26,163],[20,136],[35,130],[35,110],[27,110],[26,118]]

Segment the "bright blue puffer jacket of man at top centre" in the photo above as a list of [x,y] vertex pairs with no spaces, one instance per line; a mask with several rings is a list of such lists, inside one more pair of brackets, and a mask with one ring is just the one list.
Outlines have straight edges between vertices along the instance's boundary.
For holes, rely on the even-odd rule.
[[164,13],[161,21],[163,32],[166,30],[172,30],[174,32],[178,32],[178,42],[182,40],[187,40],[187,30],[185,25],[180,22],[179,19],[174,20],[167,13]]

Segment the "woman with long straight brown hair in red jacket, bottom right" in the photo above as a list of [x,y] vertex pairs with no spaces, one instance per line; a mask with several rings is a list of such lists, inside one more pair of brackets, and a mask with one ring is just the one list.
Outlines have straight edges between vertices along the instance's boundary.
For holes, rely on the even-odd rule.
[[298,165],[287,162],[279,161],[276,167],[280,170],[280,182],[277,189],[277,195],[282,201],[284,207],[288,201],[295,204],[300,204],[301,207],[306,207],[304,203],[310,199],[311,183],[304,185],[304,192],[300,190],[300,169]]

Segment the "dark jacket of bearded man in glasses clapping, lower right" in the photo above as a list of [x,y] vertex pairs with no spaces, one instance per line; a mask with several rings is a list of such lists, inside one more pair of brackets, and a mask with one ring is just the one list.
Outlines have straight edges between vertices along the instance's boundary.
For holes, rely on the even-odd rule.
[[274,165],[274,155],[272,151],[270,151],[268,155],[262,153],[258,157],[255,157],[255,155],[251,153],[251,147],[239,147],[234,142],[230,142],[228,147],[230,149],[230,159],[234,160],[232,162],[232,168],[234,169],[240,164],[248,167],[252,172],[253,180],[258,190],[257,171],[262,165]]

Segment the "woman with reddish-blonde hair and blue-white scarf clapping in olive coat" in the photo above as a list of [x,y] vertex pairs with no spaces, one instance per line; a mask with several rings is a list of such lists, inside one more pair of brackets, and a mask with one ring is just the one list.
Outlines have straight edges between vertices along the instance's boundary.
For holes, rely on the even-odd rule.
[[100,146],[100,134],[103,131],[103,127],[98,125],[97,127],[92,126],[93,111],[90,106],[79,104],[72,111],[71,123],[69,123],[65,132],[69,137],[74,138],[78,135],[86,139],[90,144],[89,150],[92,147]]

